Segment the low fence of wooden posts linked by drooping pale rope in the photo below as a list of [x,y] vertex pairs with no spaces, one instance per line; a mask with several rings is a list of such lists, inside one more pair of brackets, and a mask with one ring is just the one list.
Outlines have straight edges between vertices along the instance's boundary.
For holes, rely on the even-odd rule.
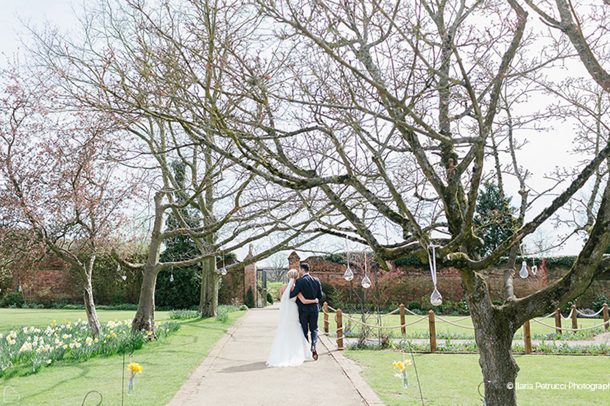
[[[369,324],[367,322],[364,321],[360,321],[357,319],[352,318],[351,316],[345,315],[343,314],[341,309],[336,309],[336,308],[332,308],[328,305],[327,302],[324,302],[324,305],[322,307],[322,312],[324,313],[324,332],[328,335],[329,334],[329,323],[328,323],[328,317],[329,317],[329,310],[331,312],[335,312],[334,315],[334,321],[336,322],[337,325],[337,349],[344,349],[343,347],[343,318],[354,322],[356,324],[359,324],[361,326],[364,327],[368,327],[370,329],[382,329],[382,330],[392,330],[392,329],[401,329],[401,332],[403,335],[406,334],[406,327],[412,326],[414,324],[417,324],[420,321],[423,321],[424,319],[428,319],[428,329],[429,329],[429,338],[430,338],[430,351],[431,352],[435,352],[436,351],[436,322],[443,322],[443,323],[447,323],[450,324],[451,326],[455,326],[455,327],[460,327],[462,329],[468,329],[468,330],[474,330],[475,327],[473,326],[464,326],[462,324],[458,324],[458,321],[462,321],[465,320],[467,318],[470,318],[470,316],[465,316],[459,319],[456,319],[454,321],[450,321],[448,319],[442,318],[440,316],[437,316],[434,314],[433,310],[430,310],[428,312],[428,315],[422,316],[422,315],[418,315],[415,312],[412,312],[411,310],[407,309],[404,307],[404,305],[400,305],[400,307],[396,308],[395,310],[392,310],[392,312],[390,313],[386,313],[386,315],[383,316],[389,316],[389,315],[393,315],[395,313],[399,313],[400,312],[400,324],[398,324],[397,326],[379,326],[378,324]],[[406,313],[411,313],[411,315],[416,316],[417,320],[415,321],[411,321],[411,322],[405,322],[404,316]],[[577,315],[582,315],[585,317],[594,317],[599,315],[600,313],[603,313],[603,319],[604,321],[601,324],[597,324],[597,326],[592,326],[592,327],[583,327],[583,328],[578,328],[578,324],[577,324],[577,319],[576,316]],[[542,326],[545,327],[551,327],[551,329],[556,329],[556,332],[559,334],[561,334],[562,331],[569,331],[569,332],[580,332],[580,331],[586,331],[586,330],[594,330],[594,329],[598,329],[599,327],[604,326],[605,330],[610,330],[610,318],[609,318],[609,314],[608,314],[608,304],[604,304],[603,307],[601,308],[601,310],[597,313],[595,313],[594,315],[586,315],[583,312],[580,312],[575,305],[572,305],[572,308],[570,310],[569,315],[567,315],[566,317],[564,317],[561,314],[560,309],[556,309],[553,313],[550,313],[550,315],[544,316],[542,318],[533,318],[531,319],[531,321],[537,322],[538,324],[541,324]],[[551,326],[551,324],[547,324],[545,322],[542,322],[542,320],[550,318],[550,317],[554,317],[555,319],[555,325]],[[572,328],[569,329],[567,327],[562,327],[561,326],[561,319],[564,320],[568,320],[568,319],[572,319]],[[529,322],[530,320],[526,321],[525,323],[523,323],[523,340],[525,341],[525,352],[526,354],[531,353],[531,333],[530,333],[530,328],[529,328]]]

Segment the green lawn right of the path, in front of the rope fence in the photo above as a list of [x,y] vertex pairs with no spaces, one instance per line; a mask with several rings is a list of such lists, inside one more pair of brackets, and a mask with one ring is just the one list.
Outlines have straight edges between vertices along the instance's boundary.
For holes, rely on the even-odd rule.
[[[393,351],[343,351],[365,370],[362,373],[368,385],[382,401],[390,406],[421,405],[414,366],[407,366],[409,388],[404,390],[400,380],[393,376],[392,361],[403,359],[403,354]],[[481,405],[476,391],[483,380],[479,357],[476,354],[414,354],[415,365],[427,406]],[[407,359],[411,355],[407,354]],[[610,388],[603,390],[569,388],[570,382],[610,382],[610,357],[515,355],[520,366],[517,384],[531,384],[534,389],[517,388],[520,405],[579,405],[606,406],[610,404]],[[565,389],[536,389],[536,383],[566,383]],[[483,388],[481,388],[483,392]]]

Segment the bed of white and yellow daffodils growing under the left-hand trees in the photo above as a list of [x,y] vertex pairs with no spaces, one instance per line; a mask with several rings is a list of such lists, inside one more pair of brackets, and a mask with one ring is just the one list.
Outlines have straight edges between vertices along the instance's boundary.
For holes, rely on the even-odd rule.
[[[173,321],[157,322],[157,337],[176,333],[180,324]],[[98,355],[113,355],[123,346],[131,351],[140,349],[152,332],[132,332],[131,319],[110,320],[102,325],[99,337],[91,336],[87,321],[53,320],[46,327],[22,326],[0,332],[0,377],[14,369],[29,366],[36,372],[42,366],[65,360],[88,360]]]

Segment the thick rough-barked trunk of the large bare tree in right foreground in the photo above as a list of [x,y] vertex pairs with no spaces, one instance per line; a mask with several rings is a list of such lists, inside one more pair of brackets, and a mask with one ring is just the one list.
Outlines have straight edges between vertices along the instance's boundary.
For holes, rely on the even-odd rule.
[[515,378],[519,366],[511,350],[514,323],[492,305],[483,276],[476,273],[474,279],[474,293],[468,294],[467,301],[485,381],[485,402],[487,406],[516,406]]

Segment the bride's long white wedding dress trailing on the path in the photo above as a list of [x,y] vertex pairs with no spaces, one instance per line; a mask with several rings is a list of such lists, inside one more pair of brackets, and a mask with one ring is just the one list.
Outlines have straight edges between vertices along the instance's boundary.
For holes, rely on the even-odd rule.
[[271,344],[267,366],[298,366],[312,358],[309,343],[303,335],[299,323],[299,310],[296,297],[290,299],[290,289],[295,280],[290,279],[288,287],[279,302],[278,329]]

